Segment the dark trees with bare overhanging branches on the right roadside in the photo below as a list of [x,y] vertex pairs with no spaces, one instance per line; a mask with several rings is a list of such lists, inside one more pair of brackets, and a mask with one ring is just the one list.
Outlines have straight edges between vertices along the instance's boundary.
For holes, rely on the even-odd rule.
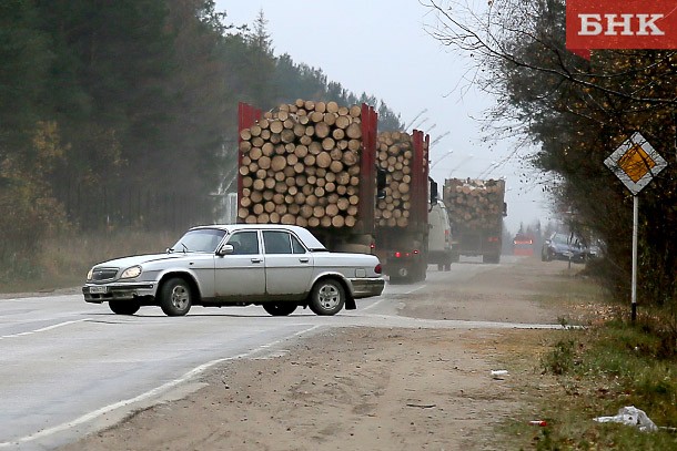
[[472,52],[498,99],[493,132],[534,146],[534,183],[570,232],[603,240],[597,269],[619,298],[630,290],[633,195],[604,161],[637,131],[668,161],[639,195],[638,293],[673,310],[677,334],[677,51],[595,50],[586,61],[566,50],[564,0],[495,0],[483,14],[425,3],[441,20],[431,34]]

